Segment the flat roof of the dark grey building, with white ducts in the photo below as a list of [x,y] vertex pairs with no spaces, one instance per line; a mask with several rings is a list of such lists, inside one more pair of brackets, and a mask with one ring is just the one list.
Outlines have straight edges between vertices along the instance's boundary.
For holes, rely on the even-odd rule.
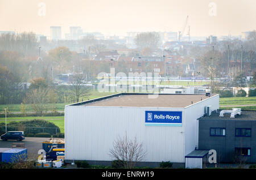
[[201,117],[199,119],[204,119],[204,120],[208,120],[208,119],[210,119],[210,120],[228,120],[228,121],[230,121],[230,120],[234,120],[234,121],[236,121],[236,120],[244,120],[244,121],[246,121],[246,120],[249,120],[249,121],[256,120],[256,111],[253,111],[253,110],[251,110],[251,111],[242,110],[241,115],[236,115],[235,118],[230,118],[230,113],[225,113],[224,117],[219,117],[219,115],[220,115],[220,112],[218,112],[218,113],[213,113],[212,112],[212,115],[206,116],[206,117]]

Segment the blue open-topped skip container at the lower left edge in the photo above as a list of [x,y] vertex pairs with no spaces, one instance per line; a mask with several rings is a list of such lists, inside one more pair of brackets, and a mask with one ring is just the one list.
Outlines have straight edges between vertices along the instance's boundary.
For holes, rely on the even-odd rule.
[[27,149],[8,149],[0,153],[0,159],[3,162],[15,162],[20,160],[27,160]]

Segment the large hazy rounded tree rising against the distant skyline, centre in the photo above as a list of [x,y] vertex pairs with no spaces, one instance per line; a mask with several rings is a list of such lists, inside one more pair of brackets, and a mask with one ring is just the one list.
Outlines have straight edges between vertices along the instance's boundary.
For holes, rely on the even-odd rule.
[[135,43],[138,48],[151,48],[158,47],[160,42],[160,35],[157,32],[142,32],[135,37]]

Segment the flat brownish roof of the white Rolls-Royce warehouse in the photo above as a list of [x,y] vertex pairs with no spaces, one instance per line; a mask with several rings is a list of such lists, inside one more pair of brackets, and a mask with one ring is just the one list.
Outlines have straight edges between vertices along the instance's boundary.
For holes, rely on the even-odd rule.
[[[214,95],[211,95],[211,97]],[[170,107],[170,108],[185,108],[209,98],[202,95],[175,95],[175,94],[159,94],[156,98],[148,98],[148,95],[143,94],[124,94],[112,96],[98,101],[87,101],[78,105],[84,106],[127,106],[127,107]]]

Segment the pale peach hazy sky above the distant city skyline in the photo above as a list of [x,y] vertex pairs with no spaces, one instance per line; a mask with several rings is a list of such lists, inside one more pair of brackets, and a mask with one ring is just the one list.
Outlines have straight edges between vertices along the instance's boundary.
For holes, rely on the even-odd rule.
[[[45,15],[40,2],[46,5]],[[178,32],[187,15],[191,36],[241,35],[256,29],[255,0],[0,0],[0,31],[49,36],[49,27],[56,25],[61,26],[63,37],[69,26],[111,35]]]

